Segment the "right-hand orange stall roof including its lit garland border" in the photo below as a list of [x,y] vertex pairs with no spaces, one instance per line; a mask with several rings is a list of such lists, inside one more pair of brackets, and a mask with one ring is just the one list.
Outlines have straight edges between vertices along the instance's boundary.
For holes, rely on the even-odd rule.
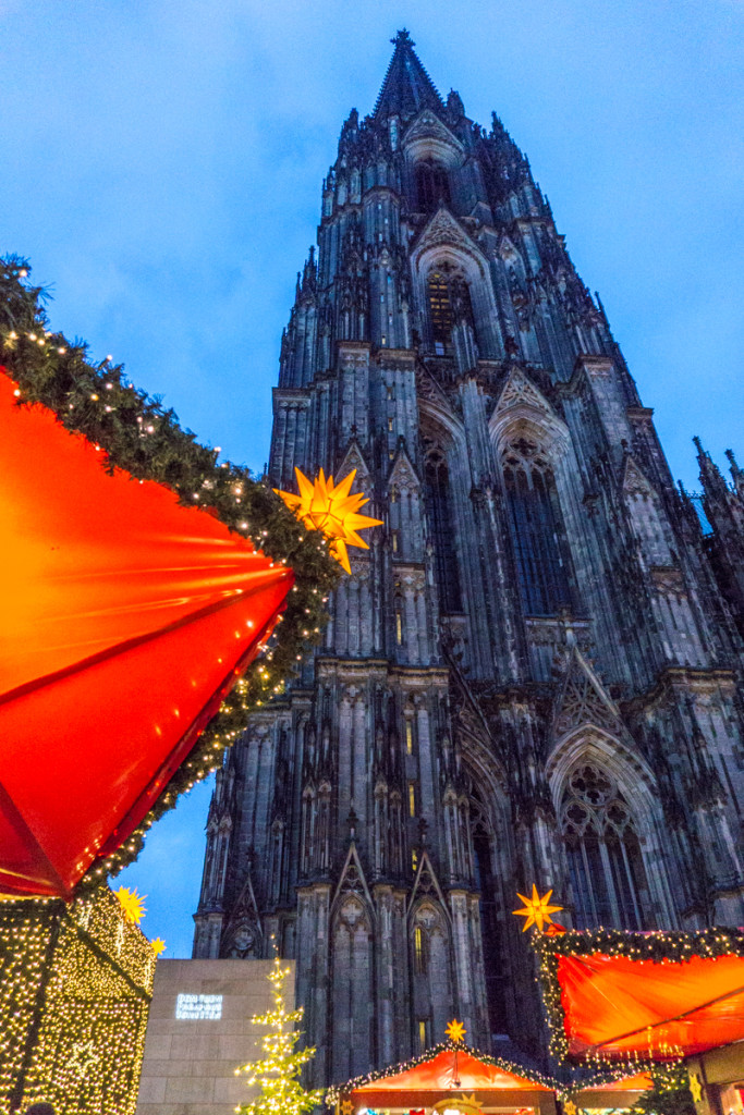
[[744,933],[569,932],[539,941],[553,1051],[665,1059],[744,1038]]

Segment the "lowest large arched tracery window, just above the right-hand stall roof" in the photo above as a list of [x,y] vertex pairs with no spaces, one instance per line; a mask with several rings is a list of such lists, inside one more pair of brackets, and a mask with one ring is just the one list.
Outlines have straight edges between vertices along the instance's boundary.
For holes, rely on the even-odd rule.
[[571,775],[561,825],[577,928],[648,929],[648,884],[636,825],[617,784],[593,763]]

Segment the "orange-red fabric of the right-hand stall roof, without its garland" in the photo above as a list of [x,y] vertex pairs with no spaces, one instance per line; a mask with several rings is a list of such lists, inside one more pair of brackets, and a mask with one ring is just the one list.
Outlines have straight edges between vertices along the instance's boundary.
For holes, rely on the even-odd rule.
[[558,980],[573,1055],[696,1054],[744,1038],[742,957],[561,956]]

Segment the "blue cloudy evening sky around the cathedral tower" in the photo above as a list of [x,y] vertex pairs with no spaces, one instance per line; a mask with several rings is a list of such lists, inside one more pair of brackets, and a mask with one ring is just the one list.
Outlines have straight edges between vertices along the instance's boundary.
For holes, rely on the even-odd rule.
[[[404,26],[530,157],[674,474],[696,488],[694,433],[741,460],[744,0],[0,0],[0,252],[52,287],[56,327],[261,468],[321,178]],[[207,803],[120,876],[170,957]]]

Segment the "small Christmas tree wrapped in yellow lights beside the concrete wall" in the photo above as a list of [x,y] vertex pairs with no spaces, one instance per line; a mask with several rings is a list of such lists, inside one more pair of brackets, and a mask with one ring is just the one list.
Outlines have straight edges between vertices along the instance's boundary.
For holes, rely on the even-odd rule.
[[287,1010],[284,982],[288,976],[289,968],[282,968],[279,957],[276,957],[268,976],[273,1009],[251,1018],[255,1026],[269,1027],[269,1032],[260,1043],[264,1056],[235,1069],[236,1074],[247,1073],[248,1083],[258,1084],[261,1094],[250,1104],[235,1107],[240,1115],[302,1115],[302,1112],[311,1112],[322,1103],[321,1089],[306,1092],[298,1079],[302,1066],[312,1060],[316,1051],[312,1048],[294,1048],[302,1037],[294,1029],[294,1024],[301,1021],[303,1010],[302,1007]]

